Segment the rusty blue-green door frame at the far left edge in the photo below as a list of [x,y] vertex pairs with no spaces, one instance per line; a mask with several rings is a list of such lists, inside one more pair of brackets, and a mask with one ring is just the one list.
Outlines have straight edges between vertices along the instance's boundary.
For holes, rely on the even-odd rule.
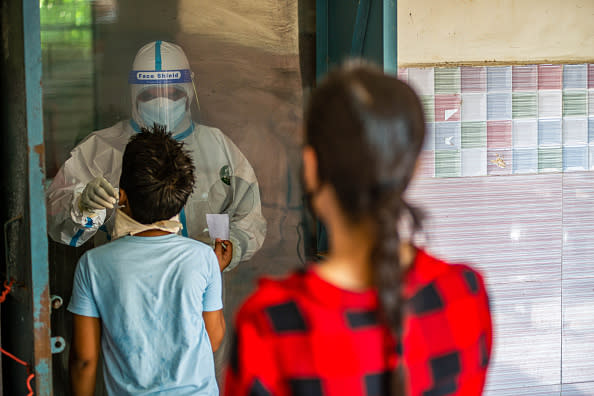
[[16,357],[3,357],[2,391],[22,395],[31,386],[35,395],[47,396],[52,394],[52,343],[39,0],[7,0],[0,13],[7,24],[1,33],[5,46],[0,78],[9,98],[1,108],[6,178],[0,209],[2,271],[12,282],[1,306],[1,341]]

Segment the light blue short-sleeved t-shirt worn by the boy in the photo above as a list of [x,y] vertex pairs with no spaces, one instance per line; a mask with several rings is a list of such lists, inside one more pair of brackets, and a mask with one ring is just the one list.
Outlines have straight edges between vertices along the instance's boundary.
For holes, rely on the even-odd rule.
[[87,251],[68,310],[101,319],[110,395],[218,395],[203,311],[222,309],[209,246],[175,234],[127,236]]

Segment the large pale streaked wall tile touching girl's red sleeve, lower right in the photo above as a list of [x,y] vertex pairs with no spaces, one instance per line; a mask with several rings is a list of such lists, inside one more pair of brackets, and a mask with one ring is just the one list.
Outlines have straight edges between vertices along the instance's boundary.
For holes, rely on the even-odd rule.
[[510,283],[491,291],[497,336],[487,386],[505,389],[560,384],[561,282]]

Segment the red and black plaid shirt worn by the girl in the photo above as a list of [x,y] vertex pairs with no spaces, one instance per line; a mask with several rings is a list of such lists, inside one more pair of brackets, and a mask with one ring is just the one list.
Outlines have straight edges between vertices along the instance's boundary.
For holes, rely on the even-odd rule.
[[408,395],[480,395],[492,345],[482,277],[419,250],[404,294],[395,342],[373,290],[337,288],[311,269],[261,281],[237,316],[225,394],[386,395],[400,362]]

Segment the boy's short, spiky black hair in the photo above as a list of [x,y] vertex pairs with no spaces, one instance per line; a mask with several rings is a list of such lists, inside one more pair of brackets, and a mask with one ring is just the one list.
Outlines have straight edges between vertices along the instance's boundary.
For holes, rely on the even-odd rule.
[[132,217],[151,224],[178,214],[194,189],[194,164],[183,143],[154,125],[130,138],[122,160],[120,187]]

